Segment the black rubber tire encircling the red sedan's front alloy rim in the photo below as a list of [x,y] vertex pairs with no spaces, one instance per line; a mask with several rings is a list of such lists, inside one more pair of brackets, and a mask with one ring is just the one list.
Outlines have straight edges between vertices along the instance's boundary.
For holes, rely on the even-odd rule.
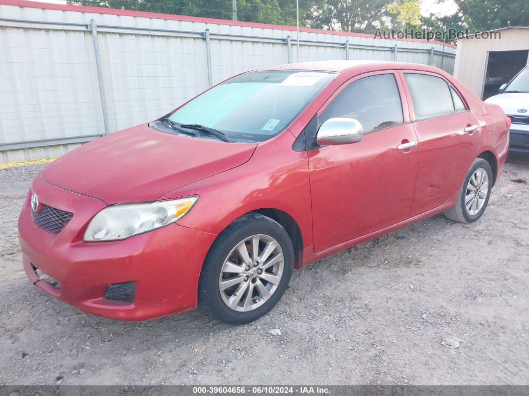
[[[229,308],[221,297],[219,279],[226,257],[245,238],[264,234],[274,238],[280,245],[284,266],[281,280],[275,292],[261,306],[242,312]],[[206,315],[229,325],[245,325],[266,315],[280,300],[288,287],[294,268],[294,249],[283,228],[275,220],[258,213],[249,213],[230,224],[218,235],[209,248],[198,282],[198,307]]]

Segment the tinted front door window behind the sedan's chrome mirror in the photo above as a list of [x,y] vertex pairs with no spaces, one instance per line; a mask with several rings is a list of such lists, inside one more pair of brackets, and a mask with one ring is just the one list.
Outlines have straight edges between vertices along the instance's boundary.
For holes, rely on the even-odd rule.
[[351,82],[323,110],[320,125],[333,117],[358,119],[364,133],[402,124],[402,104],[393,73]]

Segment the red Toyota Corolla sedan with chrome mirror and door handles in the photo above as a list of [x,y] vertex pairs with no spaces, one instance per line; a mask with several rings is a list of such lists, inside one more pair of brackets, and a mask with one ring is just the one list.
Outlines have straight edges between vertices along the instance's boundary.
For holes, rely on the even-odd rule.
[[242,73],[61,156],[19,219],[35,286],[90,314],[265,315],[294,268],[443,212],[474,222],[509,119],[414,63]]

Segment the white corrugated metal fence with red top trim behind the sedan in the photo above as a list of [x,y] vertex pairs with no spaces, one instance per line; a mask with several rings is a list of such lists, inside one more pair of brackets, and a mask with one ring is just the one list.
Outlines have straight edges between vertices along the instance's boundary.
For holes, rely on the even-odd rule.
[[298,44],[295,31],[270,25],[62,7],[0,2],[0,163],[57,156],[151,121],[245,70],[327,59],[454,64],[455,50],[437,43],[304,29]]

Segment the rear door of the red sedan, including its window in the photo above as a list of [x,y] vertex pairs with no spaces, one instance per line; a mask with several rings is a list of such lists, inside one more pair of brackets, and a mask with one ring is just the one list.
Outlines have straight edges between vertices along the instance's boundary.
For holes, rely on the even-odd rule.
[[459,191],[483,125],[441,75],[416,70],[403,70],[400,75],[418,138],[412,217],[443,205]]

